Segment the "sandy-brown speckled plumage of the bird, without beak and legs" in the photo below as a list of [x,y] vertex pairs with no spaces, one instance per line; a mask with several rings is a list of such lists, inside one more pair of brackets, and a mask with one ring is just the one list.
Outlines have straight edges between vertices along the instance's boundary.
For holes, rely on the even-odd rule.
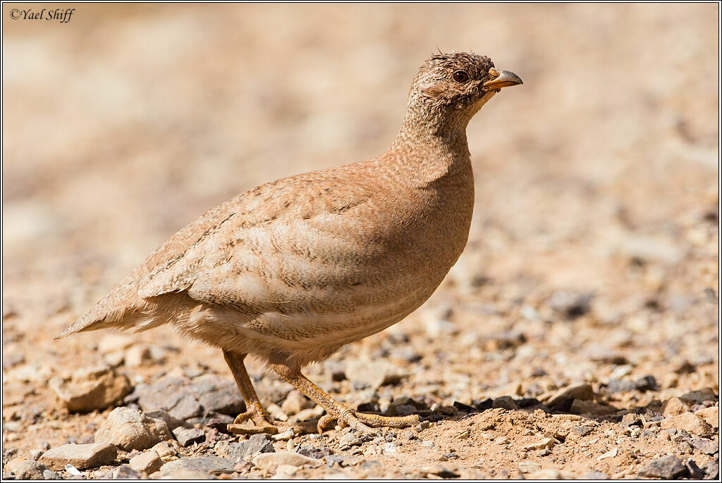
[[[466,245],[474,205],[466,125],[497,92],[484,87],[492,67],[470,53],[432,56],[391,149],[218,205],[59,337],[169,323],[294,373],[399,322]],[[458,71],[469,79],[454,80]]]

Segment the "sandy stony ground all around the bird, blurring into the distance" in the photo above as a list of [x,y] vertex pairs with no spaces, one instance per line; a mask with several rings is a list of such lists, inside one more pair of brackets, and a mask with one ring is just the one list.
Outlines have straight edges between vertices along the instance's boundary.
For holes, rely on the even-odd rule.
[[[718,477],[718,6],[215,8],[4,22],[4,478]],[[525,82],[469,126],[469,245],[305,371],[419,424],[232,434],[219,351],[52,340],[212,205],[386,149],[437,45]],[[249,372],[277,419],[322,415]]]

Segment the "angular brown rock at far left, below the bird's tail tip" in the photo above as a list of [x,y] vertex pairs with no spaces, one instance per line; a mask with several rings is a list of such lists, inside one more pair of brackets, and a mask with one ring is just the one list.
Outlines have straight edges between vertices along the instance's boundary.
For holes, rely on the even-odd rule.
[[128,378],[111,368],[81,369],[64,378],[52,378],[49,385],[70,412],[105,409],[131,391]]

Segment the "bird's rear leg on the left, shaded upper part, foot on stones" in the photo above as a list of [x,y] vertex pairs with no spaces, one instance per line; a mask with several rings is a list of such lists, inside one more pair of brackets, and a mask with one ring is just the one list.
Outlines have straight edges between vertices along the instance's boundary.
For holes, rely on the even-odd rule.
[[238,385],[240,395],[243,396],[243,401],[245,401],[245,412],[236,416],[233,424],[229,425],[228,429],[232,433],[234,432],[234,428],[231,426],[240,425],[248,420],[253,422],[253,425],[258,428],[259,433],[276,434],[279,433],[279,429],[287,430],[289,428],[297,435],[313,433],[315,428],[313,425],[308,425],[308,423],[290,425],[286,422],[274,421],[271,418],[271,415],[269,415],[266,409],[264,409],[263,404],[261,404],[261,400],[258,399],[258,394],[256,394],[256,390],[253,389],[253,384],[251,384],[251,378],[248,377],[248,372],[245,371],[245,365],[243,364],[245,354],[233,353],[224,350],[223,357],[225,358],[230,371],[233,373],[235,384]]

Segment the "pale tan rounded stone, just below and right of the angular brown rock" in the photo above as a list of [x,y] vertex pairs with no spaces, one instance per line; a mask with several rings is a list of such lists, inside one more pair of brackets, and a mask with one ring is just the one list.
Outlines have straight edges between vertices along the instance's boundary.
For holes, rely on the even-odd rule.
[[95,433],[95,440],[111,443],[125,451],[144,450],[156,443],[172,440],[163,420],[148,417],[139,409],[116,407]]

